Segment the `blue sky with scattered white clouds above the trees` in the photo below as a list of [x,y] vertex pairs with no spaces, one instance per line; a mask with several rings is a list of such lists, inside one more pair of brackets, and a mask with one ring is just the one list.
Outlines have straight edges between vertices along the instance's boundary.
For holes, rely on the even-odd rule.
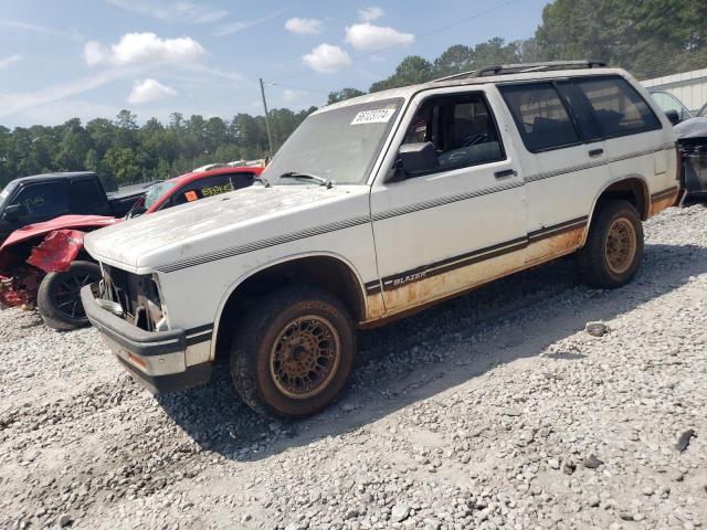
[[[3,0],[0,125],[320,106],[409,54],[525,39],[547,0]],[[469,18],[464,23],[428,34]],[[272,84],[275,83],[275,84]]]

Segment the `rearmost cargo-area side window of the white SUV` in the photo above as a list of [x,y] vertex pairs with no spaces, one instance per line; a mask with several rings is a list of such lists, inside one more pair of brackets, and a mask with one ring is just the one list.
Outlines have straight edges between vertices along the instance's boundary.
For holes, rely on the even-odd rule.
[[635,135],[661,128],[651,107],[621,77],[588,77],[574,85],[587,96],[604,137]]

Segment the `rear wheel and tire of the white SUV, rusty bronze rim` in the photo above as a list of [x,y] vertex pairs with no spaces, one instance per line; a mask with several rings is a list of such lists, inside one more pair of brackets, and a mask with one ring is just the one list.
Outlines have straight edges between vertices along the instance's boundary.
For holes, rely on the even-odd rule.
[[631,282],[643,257],[643,225],[626,201],[599,204],[587,243],[577,255],[580,278],[591,287],[613,289]]

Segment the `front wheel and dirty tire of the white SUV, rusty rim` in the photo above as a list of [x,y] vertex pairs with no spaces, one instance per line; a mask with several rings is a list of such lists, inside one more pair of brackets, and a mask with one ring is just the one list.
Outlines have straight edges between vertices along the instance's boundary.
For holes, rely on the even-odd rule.
[[255,412],[277,418],[309,416],[346,388],[356,333],[346,307],[314,287],[267,295],[239,324],[231,377]]

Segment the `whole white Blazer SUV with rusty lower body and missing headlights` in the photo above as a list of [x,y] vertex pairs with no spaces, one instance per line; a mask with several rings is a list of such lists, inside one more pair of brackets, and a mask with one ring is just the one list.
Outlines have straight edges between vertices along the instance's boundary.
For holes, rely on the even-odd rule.
[[91,321],[152,391],[230,357],[256,411],[313,414],[346,386],[356,329],[577,253],[629,282],[641,221],[680,191],[671,124],[629,74],[510,65],[319,109],[263,186],[86,236]]

